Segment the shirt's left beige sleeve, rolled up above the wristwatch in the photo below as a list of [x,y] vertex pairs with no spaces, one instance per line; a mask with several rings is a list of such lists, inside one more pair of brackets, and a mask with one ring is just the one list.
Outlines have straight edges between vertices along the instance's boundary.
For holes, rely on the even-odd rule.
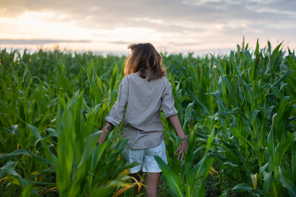
[[122,120],[128,100],[128,80],[126,80],[126,78],[122,79],[118,90],[119,94],[117,101],[115,101],[109,114],[105,116],[105,121],[110,122],[115,127],[118,127]]

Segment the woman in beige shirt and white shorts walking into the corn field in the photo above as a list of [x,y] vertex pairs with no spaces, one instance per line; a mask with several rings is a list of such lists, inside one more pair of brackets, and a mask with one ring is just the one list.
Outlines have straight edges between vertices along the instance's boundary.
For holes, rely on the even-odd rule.
[[[160,107],[164,117],[170,120],[178,137],[182,139],[182,145],[175,152],[178,153],[178,159],[181,156],[181,161],[184,152],[187,152],[186,136],[174,106],[172,88],[166,78],[162,56],[150,43],[131,44],[128,49],[131,49],[131,55],[126,58],[125,77],[119,86],[118,99],[105,117],[106,124],[99,143],[105,141],[112,125],[119,126],[126,111],[120,131],[122,137],[130,138],[126,144],[129,148],[124,148],[123,157],[127,164],[135,161],[144,165],[144,168],[137,165],[129,171],[137,180],[137,173],[142,175],[142,172],[148,172],[146,195],[155,197],[158,196],[161,170],[152,154],[159,155],[167,163]],[[135,195],[137,193],[135,188]]]

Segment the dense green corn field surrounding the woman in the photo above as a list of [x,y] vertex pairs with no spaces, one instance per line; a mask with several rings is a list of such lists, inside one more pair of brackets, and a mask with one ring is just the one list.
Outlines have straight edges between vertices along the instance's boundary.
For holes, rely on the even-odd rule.
[[[97,145],[125,56],[0,54],[0,196],[130,196],[119,127]],[[294,50],[242,42],[229,55],[163,55],[188,153],[164,118],[160,196],[296,196]],[[143,177],[144,178],[144,177]],[[144,194],[142,196],[145,196]]]

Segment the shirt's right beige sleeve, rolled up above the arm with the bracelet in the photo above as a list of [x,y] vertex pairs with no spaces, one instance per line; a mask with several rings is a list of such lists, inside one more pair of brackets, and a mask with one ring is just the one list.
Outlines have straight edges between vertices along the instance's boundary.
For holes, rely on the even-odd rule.
[[175,108],[175,100],[172,94],[172,86],[169,82],[167,83],[163,97],[161,98],[161,107],[163,110],[163,116],[165,116],[165,118],[178,114],[178,111]]

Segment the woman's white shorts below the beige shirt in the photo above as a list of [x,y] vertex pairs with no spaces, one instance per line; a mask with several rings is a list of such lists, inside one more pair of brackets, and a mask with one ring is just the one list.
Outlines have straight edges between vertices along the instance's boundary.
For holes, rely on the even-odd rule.
[[159,146],[146,149],[130,149],[125,147],[123,149],[123,158],[126,160],[126,165],[132,162],[139,162],[142,165],[137,165],[128,169],[130,173],[137,173],[139,171],[157,173],[161,172],[158,163],[154,159],[153,155],[158,155],[162,160],[168,164],[168,159],[165,153],[165,141],[163,140]]

